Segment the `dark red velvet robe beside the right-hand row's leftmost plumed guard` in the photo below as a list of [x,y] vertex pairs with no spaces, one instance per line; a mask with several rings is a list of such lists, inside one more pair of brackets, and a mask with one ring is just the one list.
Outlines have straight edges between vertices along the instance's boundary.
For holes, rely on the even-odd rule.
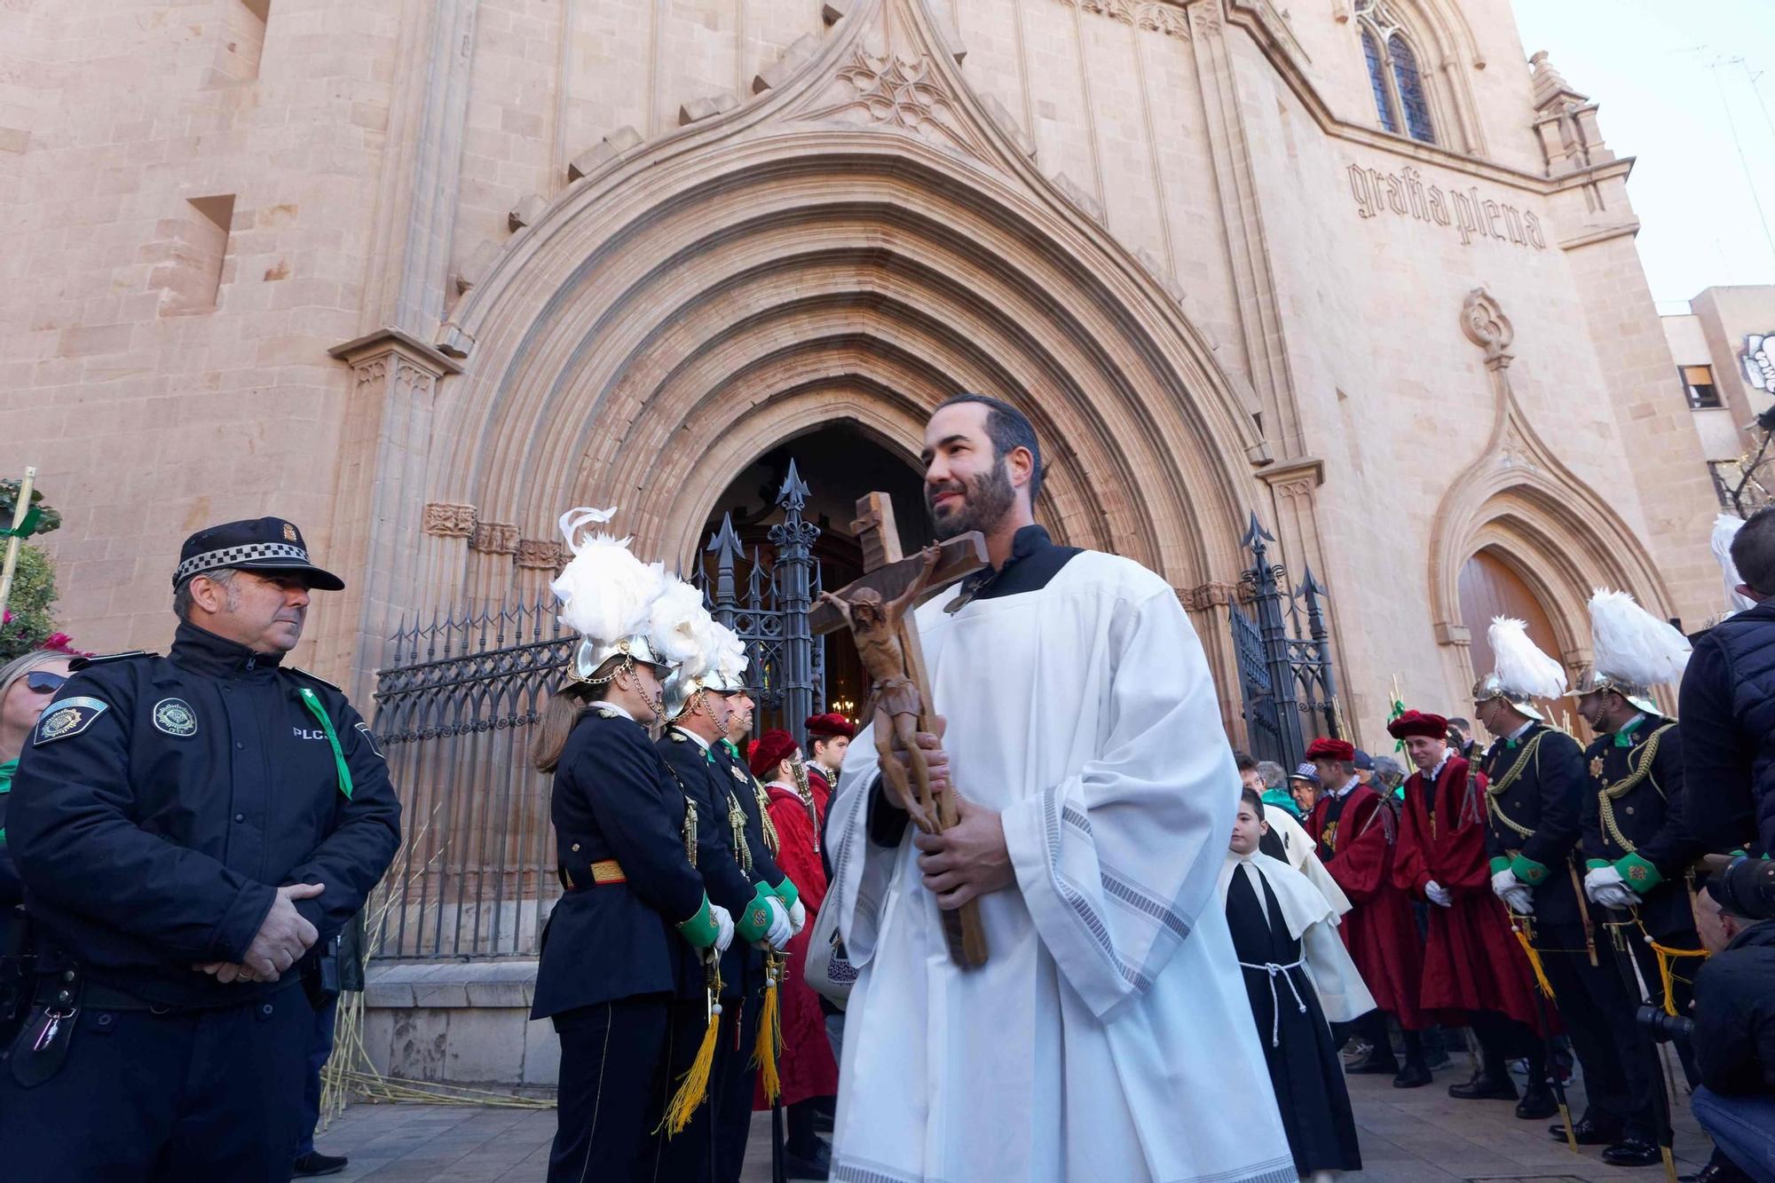
[[1424,773],[1406,780],[1399,817],[1393,883],[1427,901],[1434,879],[1454,893],[1450,908],[1429,906],[1424,986],[1418,1004],[1448,1025],[1466,1023],[1464,1011],[1502,1011],[1535,1030],[1534,973],[1511,933],[1509,911],[1491,893],[1486,860],[1486,776],[1468,794],[1466,760],[1448,757],[1436,778],[1436,810],[1427,805]]

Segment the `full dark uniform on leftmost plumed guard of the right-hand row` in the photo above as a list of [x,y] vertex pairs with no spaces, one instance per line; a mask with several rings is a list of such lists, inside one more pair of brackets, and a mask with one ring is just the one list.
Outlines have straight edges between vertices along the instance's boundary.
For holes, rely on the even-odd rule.
[[[1578,741],[1544,723],[1495,739],[1484,758],[1486,853],[1491,870],[1509,869],[1534,890],[1525,918],[1553,986],[1553,1002],[1583,1066],[1592,1124],[1621,1128],[1649,1121],[1635,1108],[1624,1048],[1633,1041],[1633,1005],[1608,965],[1599,925],[1587,924],[1578,870],[1578,837],[1589,785]],[[1498,904],[1503,908],[1503,902]],[[1644,1133],[1651,1133],[1647,1126]]]

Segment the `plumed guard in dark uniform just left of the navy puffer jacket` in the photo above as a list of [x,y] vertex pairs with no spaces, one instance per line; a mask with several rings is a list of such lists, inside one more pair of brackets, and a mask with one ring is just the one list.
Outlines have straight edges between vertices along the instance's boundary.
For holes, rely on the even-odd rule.
[[[1573,693],[1578,714],[1598,734],[1583,753],[1583,890],[1603,913],[1605,943],[1628,1007],[1642,998],[1665,1005],[1658,952],[1647,938],[1667,949],[1700,949],[1686,869],[1702,851],[1670,824],[1683,796],[1681,732],[1658,712],[1651,687],[1681,671],[1688,641],[1621,592],[1592,597],[1590,620],[1594,664]],[[1688,1011],[1695,966],[1692,959],[1670,963],[1677,1014]],[[1637,1025],[1631,1030],[1621,1060],[1635,1119],[1603,1151],[1612,1167],[1660,1160],[1645,1119],[1658,1121],[1667,1103],[1660,1098],[1661,1068],[1651,1039]],[[1693,1075],[1686,1053],[1684,1071]]]

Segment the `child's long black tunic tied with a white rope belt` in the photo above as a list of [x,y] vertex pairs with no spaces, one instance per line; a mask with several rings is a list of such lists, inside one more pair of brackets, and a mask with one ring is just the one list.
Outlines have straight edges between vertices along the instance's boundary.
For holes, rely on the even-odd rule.
[[1361,1171],[1344,1064],[1331,1043],[1319,991],[1301,961],[1301,940],[1289,936],[1269,879],[1250,861],[1241,861],[1227,885],[1227,929],[1294,1169],[1301,1178],[1314,1171]]

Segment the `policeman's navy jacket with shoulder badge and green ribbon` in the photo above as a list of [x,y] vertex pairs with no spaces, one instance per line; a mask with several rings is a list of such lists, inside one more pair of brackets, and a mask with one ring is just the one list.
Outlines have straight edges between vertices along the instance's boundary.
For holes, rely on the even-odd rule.
[[327,888],[295,901],[320,929],[311,957],[357,915],[399,847],[401,806],[344,693],[280,659],[181,623],[167,657],[75,663],[7,817],[39,949],[146,1002],[233,1005],[298,970],[222,984],[192,965],[241,961],[280,885]]

